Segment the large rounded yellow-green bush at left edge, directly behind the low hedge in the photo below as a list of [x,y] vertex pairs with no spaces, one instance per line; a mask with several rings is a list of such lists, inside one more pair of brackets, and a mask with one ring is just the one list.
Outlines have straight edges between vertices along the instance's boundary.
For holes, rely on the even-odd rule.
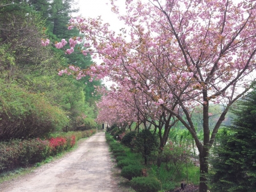
[[0,83],[0,89],[0,140],[42,137],[66,125],[65,112],[44,97],[15,84]]

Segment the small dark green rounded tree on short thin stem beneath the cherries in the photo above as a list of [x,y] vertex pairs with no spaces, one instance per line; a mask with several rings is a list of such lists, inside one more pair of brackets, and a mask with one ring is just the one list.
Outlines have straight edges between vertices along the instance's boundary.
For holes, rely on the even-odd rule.
[[135,145],[136,151],[142,154],[145,164],[147,164],[147,158],[154,151],[158,150],[157,138],[150,130],[142,130],[133,140],[133,144]]

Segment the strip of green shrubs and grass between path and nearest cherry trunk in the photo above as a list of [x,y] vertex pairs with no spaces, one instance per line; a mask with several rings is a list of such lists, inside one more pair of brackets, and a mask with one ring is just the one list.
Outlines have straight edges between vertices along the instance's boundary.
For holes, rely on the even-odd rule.
[[121,176],[127,179],[123,184],[132,186],[136,191],[172,191],[179,188],[181,183],[199,185],[199,167],[190,158],[187,145],[167,144],[161,155],[161,166],[158,167],[157,137],[151,139],[152,142],[144,142],[144,135],[147,135],[146,138],[150,138],[148,135],[154,137],[150,131],[142,130],[141,134],[127,132],[120,139],[116,138],[113,130],[115,126],[106,133],[106,140],[117,166],[122,169]]

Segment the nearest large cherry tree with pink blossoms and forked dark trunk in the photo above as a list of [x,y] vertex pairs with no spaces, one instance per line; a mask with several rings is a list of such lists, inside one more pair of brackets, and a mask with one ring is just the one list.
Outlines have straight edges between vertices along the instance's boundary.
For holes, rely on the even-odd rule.
[[[254,80],[254,1],[126,0],[126,15],[119,14],[114,0],[111,3],[127,29],[116,34],[100,18],[72,18],[69,29],[77,27],[86,40],[82,54],[98,56],[103,63],[87,70],[69,70],[78,79],[109,76],[117,84],[129,84],[127,91],[143,93],[165,111],[164,118],[178,119],[198,147],[200,192],[206,192],[209,149],[230,106]],[[211,102],[224,107],[212,131],[208,120]],[[202,142],[191,118],[197,105],[203,108]]]

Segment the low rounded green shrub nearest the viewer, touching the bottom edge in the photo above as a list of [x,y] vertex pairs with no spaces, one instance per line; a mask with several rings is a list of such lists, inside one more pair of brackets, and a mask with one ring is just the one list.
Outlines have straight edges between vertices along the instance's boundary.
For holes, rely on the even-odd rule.
[[136,177],[130,183],[137,192],[157,192],[161,190],[161,182],[154,177]]

